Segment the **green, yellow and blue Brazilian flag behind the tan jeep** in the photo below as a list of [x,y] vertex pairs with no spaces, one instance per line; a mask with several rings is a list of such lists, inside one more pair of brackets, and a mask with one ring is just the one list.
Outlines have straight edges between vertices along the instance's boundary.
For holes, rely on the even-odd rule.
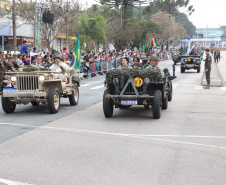
[[77,41],[75,43],[75,48],[73,51],[73,55],[71,57],[70,70],[80,69],[81,61],[80,61],[80,43],[79,43],[79,35],[77,37]]

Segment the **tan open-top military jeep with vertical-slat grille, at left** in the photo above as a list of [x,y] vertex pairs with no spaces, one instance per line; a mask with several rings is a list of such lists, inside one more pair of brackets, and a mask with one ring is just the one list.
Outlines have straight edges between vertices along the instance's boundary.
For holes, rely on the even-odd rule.
[[79,101],[81,79],[77,72],[65,74],[51,71],[7,72],[2,93],[2,108],[13,113],[16,104],[38,106],[48,104],[49,112],[57,113],[60,97],[68,97],[72,106]]

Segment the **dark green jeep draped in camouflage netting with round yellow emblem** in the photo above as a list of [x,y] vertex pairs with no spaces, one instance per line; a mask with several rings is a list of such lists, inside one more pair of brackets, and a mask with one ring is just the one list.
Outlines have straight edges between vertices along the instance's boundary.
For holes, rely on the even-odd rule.
[[159,68],[116,69],[106,75],[107,89],[103,95],[103,112],[106,118],[113,116],[115,108],[129,108],[132,105],[152,106],[153,118],[161,117],[161,109],[168,108],[172,100],[172,82],[168,69],[164,69],[164,77]]

